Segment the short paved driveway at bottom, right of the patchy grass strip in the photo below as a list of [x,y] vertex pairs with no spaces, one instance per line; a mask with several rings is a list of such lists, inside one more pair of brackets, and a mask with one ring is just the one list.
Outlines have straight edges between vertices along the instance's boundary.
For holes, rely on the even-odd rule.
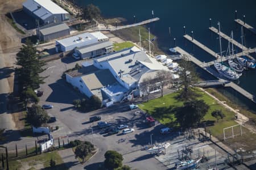
[[72,148],[68,148],[66,150],[60,150],[58,152],[67,168],[84,169],[82,164],[75,158],[75,154],[72,151]]

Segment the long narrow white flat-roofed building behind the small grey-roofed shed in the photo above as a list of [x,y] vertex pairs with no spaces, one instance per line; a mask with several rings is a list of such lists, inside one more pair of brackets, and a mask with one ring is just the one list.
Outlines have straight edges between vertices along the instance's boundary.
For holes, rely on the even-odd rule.
[[56,52],[68,52],[75,48],[85,47],[98,41],[108,40],[108,37],[101,32],[82,33],[80,35],[56,40]]

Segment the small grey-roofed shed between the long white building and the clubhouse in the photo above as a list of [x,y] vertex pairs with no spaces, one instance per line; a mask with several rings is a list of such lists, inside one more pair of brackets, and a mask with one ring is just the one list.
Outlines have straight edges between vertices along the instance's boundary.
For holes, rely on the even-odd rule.
[[82,59],[93,58],[102,54],[113,52],[113,43],[110,41],[100,41],[95,44],[90,44],[81,48],[76,48],[75,53]]

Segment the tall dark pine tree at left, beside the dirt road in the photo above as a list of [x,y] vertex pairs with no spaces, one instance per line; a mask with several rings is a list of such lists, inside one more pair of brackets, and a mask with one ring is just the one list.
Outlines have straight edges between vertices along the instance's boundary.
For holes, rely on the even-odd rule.
[[33,90],[39,87],[39,84],[44,83],[45,77],[40,76],[44,70],[42,67],[46,65],[45,62],[40,61],[36,48],[32,45],[31,41],[26,41],[26,45],[22,45],[18,54],[16,54],[16,74],[19,81],[19,90],[22,92],[24,89],[31,87]]

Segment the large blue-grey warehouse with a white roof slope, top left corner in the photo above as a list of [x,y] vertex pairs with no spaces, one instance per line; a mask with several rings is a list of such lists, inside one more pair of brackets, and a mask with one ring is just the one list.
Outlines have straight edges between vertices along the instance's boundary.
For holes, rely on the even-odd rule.
[[68,19],[68,12],[51,0],[27,0],[23,10],[40,21],[40,24],[60,23]]

